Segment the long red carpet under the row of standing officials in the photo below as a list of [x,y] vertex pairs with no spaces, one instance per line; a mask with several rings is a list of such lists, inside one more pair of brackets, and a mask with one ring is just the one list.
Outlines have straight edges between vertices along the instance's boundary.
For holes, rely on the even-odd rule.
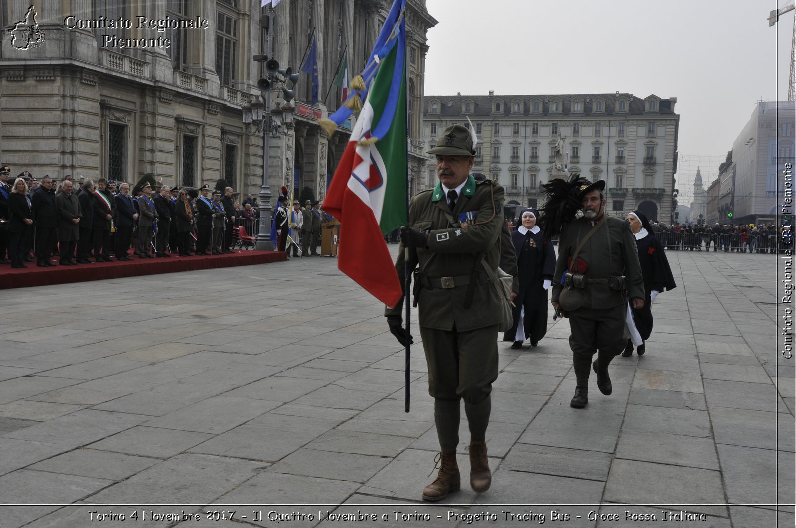
[[[63,284],[64,282],[98,281],[105,278],[135,277],[136,275],[170,274],[177,271],[209,270],[231,266],[250,266],[285,260],[283,251],[235,250],[232,254],[171,258],[137,258],[133,262],[94,262],[77,266],[40,268],[36,262],[26,262],[27,268],[0,266],[0,289],[25,288]],[[53,264],[58,258],[53,257]],[[90,273],[84,273],[89,271]]]

